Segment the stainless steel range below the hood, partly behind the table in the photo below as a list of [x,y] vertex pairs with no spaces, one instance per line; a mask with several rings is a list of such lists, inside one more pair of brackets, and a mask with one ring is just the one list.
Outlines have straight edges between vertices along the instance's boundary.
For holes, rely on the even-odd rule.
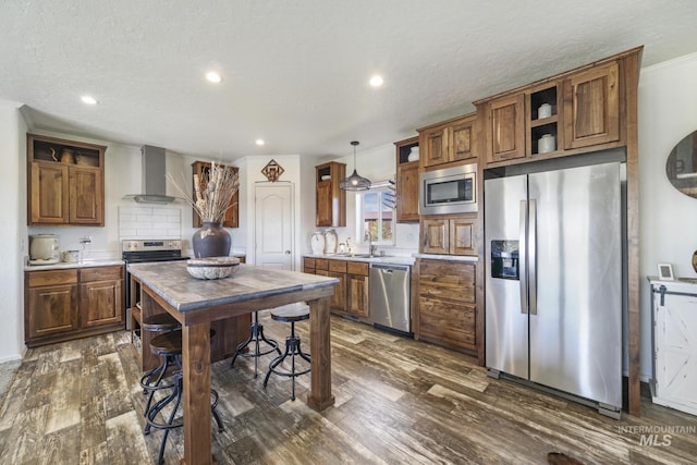
[[[130,264],[147,264],[152,261],[180,261],[188,260],[182,256],[182,241],[180,240],[126,240],[121,241],[123,260],[126,262],[125,273],[125,307],[126,330],[138,335],[139,321],[133,321],[131,311],[131,273]],[[134,325],[138,328],[134,328]]]

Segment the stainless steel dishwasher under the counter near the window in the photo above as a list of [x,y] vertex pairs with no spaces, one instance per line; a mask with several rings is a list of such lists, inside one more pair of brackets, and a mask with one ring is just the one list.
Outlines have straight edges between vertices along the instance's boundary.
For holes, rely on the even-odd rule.
[[370,265],[370,322],[378,328],[411,333],[411,267]]

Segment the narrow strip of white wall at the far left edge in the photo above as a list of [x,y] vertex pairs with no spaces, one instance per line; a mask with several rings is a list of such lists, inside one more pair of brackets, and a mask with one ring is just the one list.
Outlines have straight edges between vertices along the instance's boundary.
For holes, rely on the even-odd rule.
[[26,123],[20,103],[0,100],[0,363],[20,359],[24,347],[26,247]]

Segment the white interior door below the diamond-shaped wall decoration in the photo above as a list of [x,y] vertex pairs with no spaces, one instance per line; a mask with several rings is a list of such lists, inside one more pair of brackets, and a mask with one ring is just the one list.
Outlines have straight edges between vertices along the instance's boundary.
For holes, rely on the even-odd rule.
[[290,183],[255,186],[255,265],[293,269],[293,188]]

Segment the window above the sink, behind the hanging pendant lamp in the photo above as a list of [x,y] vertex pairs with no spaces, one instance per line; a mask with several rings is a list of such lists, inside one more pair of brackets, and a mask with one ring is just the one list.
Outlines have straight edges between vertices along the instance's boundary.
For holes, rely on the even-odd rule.
[[356,237],[367,244],[367,232],[376,245],[394,245],[394,194],[370,189],[356,194]]

